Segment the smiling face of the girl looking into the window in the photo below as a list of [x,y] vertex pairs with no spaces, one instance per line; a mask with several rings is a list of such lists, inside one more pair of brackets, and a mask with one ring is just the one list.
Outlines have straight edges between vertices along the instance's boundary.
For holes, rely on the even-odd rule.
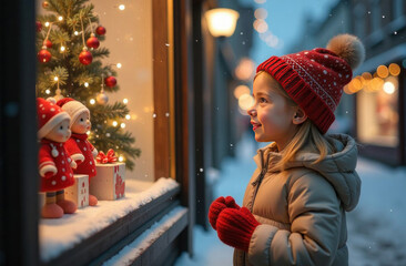
[[278,83],[267,73],[254,80],[254,105],[247,111],[257,142],[276,142],[282,149],[294,135],[293,117],[295,109],[278,93]]

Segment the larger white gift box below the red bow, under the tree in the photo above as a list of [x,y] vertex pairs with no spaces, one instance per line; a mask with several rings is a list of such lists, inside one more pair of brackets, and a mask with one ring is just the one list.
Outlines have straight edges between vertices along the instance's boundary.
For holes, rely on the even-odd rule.
[[95,164],[97,175],[91,178],[90,194],[101,201],[114,201],[125,195],[125,164]]

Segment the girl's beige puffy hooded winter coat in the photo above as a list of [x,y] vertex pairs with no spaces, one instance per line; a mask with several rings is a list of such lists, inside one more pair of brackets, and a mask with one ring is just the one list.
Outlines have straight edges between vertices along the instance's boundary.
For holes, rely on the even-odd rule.
[[234,250],[234,265],[348,265],[345,212],[361,193],[357,147],[348,135],[327,139],[338,152],[314,165],[318,155],[304,149],[283,172],[273,167],[281,158],[274,144],[258,150],[243,205],[261,225],[248,253]]

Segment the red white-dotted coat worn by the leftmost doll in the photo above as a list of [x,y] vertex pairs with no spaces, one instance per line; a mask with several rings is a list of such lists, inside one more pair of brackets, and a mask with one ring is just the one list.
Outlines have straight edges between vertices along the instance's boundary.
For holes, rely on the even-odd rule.
[[[57,155],[57,156],[54,156]],[[39,170],[43,170],[48,165],[53,165],[58,172],[47,177],[41,178],[41,192],[54,192],[67,188],[74,184],[73,171],[70,166],[72,160],[68,155],[63,143],[41,140],[39,152]]]

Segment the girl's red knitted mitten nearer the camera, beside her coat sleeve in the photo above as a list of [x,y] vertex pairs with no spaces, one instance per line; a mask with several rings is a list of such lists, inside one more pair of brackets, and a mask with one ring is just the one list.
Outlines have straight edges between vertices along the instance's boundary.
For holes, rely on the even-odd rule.
[[248,252],[252,234],[258,225],[246,207],[225,208],[217,218],[217,235],[223,243]]

